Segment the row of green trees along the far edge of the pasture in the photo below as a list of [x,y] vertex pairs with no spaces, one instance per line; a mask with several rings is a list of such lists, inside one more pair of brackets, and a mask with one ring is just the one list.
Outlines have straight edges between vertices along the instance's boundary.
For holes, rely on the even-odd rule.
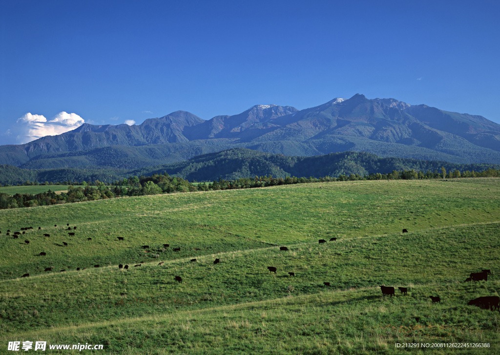
[[[130,176],[122,180],[115,180],[111,185],[106,186],[104,182],[93,181],[87,183],[82,181],[82,186],[69,184],[67,192],[54,192],[48,190],[37,194],[16,193],[8,195],[0,192],[0,209],[34,207],[51,204],[62,204],[81,201],[94,201],[98,199],[122,197],[122,196],[142,196],[159,193],[195,192],[209,190],[226,190],[237,188],[255,188],[278,186],[296,183],[313,183],[324,181],[354,181],[354,180],[396,180],[396,179],[437,179],[437,178],[467,178],[467,177],[498,177],[500,169],[488,168],[482,171],[457,169],[447,171],[444,167],[439,170],[425,172],[421,170],[392,170],[388,173],[370,173],[365,175],[351,173],[349,175],[340,174],[337,177],[296,177],[286,176],[274,178],[271,174],[267,176],[255,176],[253,178],[244,177],[234,180],[224,180],[219,178],[211,182],[189,182],[182,177],[169,176],[166,172],[155,173],[151,176]],[[66,181],[75,182],[75,181]],[[50,185],[51,183],[46,182]],[[57,184],[57,183],[55,183]],[[60,184],[60,183],[59,183]]]

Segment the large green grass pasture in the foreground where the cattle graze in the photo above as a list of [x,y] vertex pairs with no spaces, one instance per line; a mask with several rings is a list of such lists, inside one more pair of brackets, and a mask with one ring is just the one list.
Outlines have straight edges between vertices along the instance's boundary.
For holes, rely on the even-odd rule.
[[499,353],[500,312],[467,305],[500,289],[499,196],[498,178],[345,181],[0,210],[0,353]]

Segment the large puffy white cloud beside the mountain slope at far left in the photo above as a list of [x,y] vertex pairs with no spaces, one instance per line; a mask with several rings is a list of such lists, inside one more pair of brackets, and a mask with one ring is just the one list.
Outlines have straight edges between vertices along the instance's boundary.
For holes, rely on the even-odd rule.
[[41,114],[26,113],[18,118],[15,126],[9,132],[15,134],[19,144],[30,142],[45,135],[56,135],[73,130],[85,121],[76,113],[65,111],[57,113],[52,119],[47,119]]

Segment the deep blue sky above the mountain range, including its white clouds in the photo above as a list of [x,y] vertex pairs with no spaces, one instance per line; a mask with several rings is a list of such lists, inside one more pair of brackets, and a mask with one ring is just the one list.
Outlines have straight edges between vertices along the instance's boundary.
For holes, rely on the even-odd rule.
[[500,123],[498,18],[489,0],[0,0],[0,144],[355,93]]

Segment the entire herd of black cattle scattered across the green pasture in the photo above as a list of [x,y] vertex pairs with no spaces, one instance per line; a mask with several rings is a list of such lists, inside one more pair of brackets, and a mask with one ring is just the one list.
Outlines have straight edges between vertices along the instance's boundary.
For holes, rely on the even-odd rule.
[[[67,230],[71,230],[71,227],[69,226],[69,223],[66,224],[67,226]],[[54,227],[57,227],[57,224],[54,224]],[[30,230],[30,229],[33,229],[32,226],[29,226],[29,227],[23,227],[23,228],[20,228],[20,230],[22,231],[19,232],[19,231],[15,231],[13,232],[13,238],[18,238],[19,235],[21,234],[25,234],[26,230]],[[38,230],[40,230],[41,227],[38,227]],[[76,229],[76,226],[73,226],[73,230]],[[408,230],[406,229],[403,229],[402,230],[403,233],[407,233]],[[0,233],[1,233],[1,230],[0,230]],[[10,235],[10,230],[8,229],[7,232],[6,232],[6,235]],[[75,232],[68,232],[68,235],[69,236],[74,236],[75,235]],[[46,237],[49,237],[50,234],[49,233],[44,233],[43,236],[46,236]],[[330,241],[335,241],[337,238],[336,237],[332,237],[330,238]],[[87,240],[92,240],[92,238],[87,238]],[[118,236],[117,237],[117,240],[119,241],[123,241],[124,240],[124,237],[122,236]],[[325,243],[326,240],[325,239],[319,239],[318,240],[319,244],[322,244],[322,243]],[[24,240],[24,243],[25,244],[29,244],[29,240]],[[62,242],[62,245],[63,246],[68,246],[68,243],[63,241]],[[170,244],[163,244],[163,247],[167,248],[169,247]],[[141,246],[143,249],[149,249],[149,245],[142,245]],[[172,248],[173,251],[180,251],[180,247],[176,247],[176,248]],[[198,248],[195,248],[195,250],[199,250]],[[286,246],[280,246],[279,247],[279,250],[281,251],[287,251],[288,248]],[[44,251],[41,251],[39,254],[37,255],[40,255],[40,256],[44,256],[46,255],[46,252]],[[141,263],[143,263],[144,261],[141,261]],[[190,262],[196,262],[196,259],[190,259]],[[220,262],[220,259],[216,258],[214,261],[213,261],[213,264],[216,265]],[[133,265],[134,267],[138,267],[141,265],[141,263],[139,264],[135,264]],[[158,263],[158,265],[163,265],[164,261],[161,261]],[[96,264],[94,265],[94,267],[100,267],[100,265]],[[122,264],[119,264],[118,265],[118,268],[119,269],[125,269],[127,270],[128,269],[128,265],[122,265]],[[81,270],[84,270],[85,267],[81,268]],[[277,268],[275,266],[267,266],[267,269],[269,270],[269,272],[274,272],[276,273],[277,271]],[[76,268],[77,271],[80,270],[79,267]],[[52,271],[52,266],[51,267],[46,267],[44,271]],[[63,271],[66,271],[65,269],[62,269],[60,270],[60,272],[63,272]],[[490,269],[482,269],[480,272],[471,272],[469,277],[467,277],[464,282],[469,282],[469,281],[481,281],[481,280],[484,280],[484,281],[487,281],[488,280],[488,274],[491,273],[491,270]],[[288,272],[288,275],[289,276],[295,276],[295,273],[293,271],[289,271]],[[28,277],[29,276],[29,273],[25,273],[23,274],[22,276],[20,277]],[[174,276],[174,280],[181,283],[182,282],[182,277],[180,276]],[[329,286],[330,285],[330,282],[323,282],[323,284],[325,286]],[[408,292],[408,288],[407,287],[397,287],[399,289],[399,291],[401,292],[401,294],[404,294],[404,295],[407,295],[407,292]],[[382,297],[385,298],[385,295],[389,295],[390,297],[392,297],[392,295],[395,296],[395,289],[394,287],[392,286],[385,286],[385,285],[380,285],[380,289],[382,291]],[[436,303],[436,302],[441,302],[441,298],[439,296],[429,296],[429,298],[432,300],[432,303]],[[475,299],[471,299],[468,303],[468,305],[476,305],[480,308],[483,308],[483,309],[489,309],[489,310],[495,310],[497,309],[498,312],[500,312],[500,297],[499,296],[481,296],[481,297],[477,297]]]

